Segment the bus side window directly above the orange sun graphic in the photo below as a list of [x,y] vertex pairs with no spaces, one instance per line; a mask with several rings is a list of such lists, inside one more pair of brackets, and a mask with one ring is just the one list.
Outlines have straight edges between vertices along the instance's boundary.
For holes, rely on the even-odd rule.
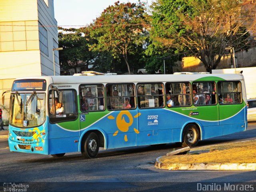
[[107,84],[108,110],[135,109],[134,84]]

